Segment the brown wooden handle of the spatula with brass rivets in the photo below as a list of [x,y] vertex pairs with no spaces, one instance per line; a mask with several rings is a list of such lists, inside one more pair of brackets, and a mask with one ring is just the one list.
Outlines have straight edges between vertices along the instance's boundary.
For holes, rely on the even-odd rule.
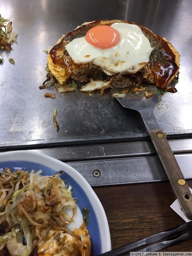
[[164,166],[165,172],[172,184],[185,216],[192,220],[192,195],[188,184],[180,170],[172,149],[161,129],[149,132],[157,154]]

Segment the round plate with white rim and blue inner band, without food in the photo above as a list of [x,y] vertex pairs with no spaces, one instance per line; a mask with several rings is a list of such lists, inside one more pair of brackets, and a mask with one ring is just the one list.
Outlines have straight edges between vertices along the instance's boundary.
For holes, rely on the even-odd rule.
[[35,172],[42,170],[43,175],[49,176],[64,171],[60,177],[66,180],[65,184],[72,186],[73,196],[78,200],[79,209],[76,219],[80,225],[81,220],[83,221],[82,210],[87,208],[90,211],[87,228],[94,256],[111,250],[108,221],[104,209],[89,183],[74,168],[50,156],[31,151],[0,153],[0,169],[5,167],[11,168],[12,171],[21,168],[25,171],[33,169]]

